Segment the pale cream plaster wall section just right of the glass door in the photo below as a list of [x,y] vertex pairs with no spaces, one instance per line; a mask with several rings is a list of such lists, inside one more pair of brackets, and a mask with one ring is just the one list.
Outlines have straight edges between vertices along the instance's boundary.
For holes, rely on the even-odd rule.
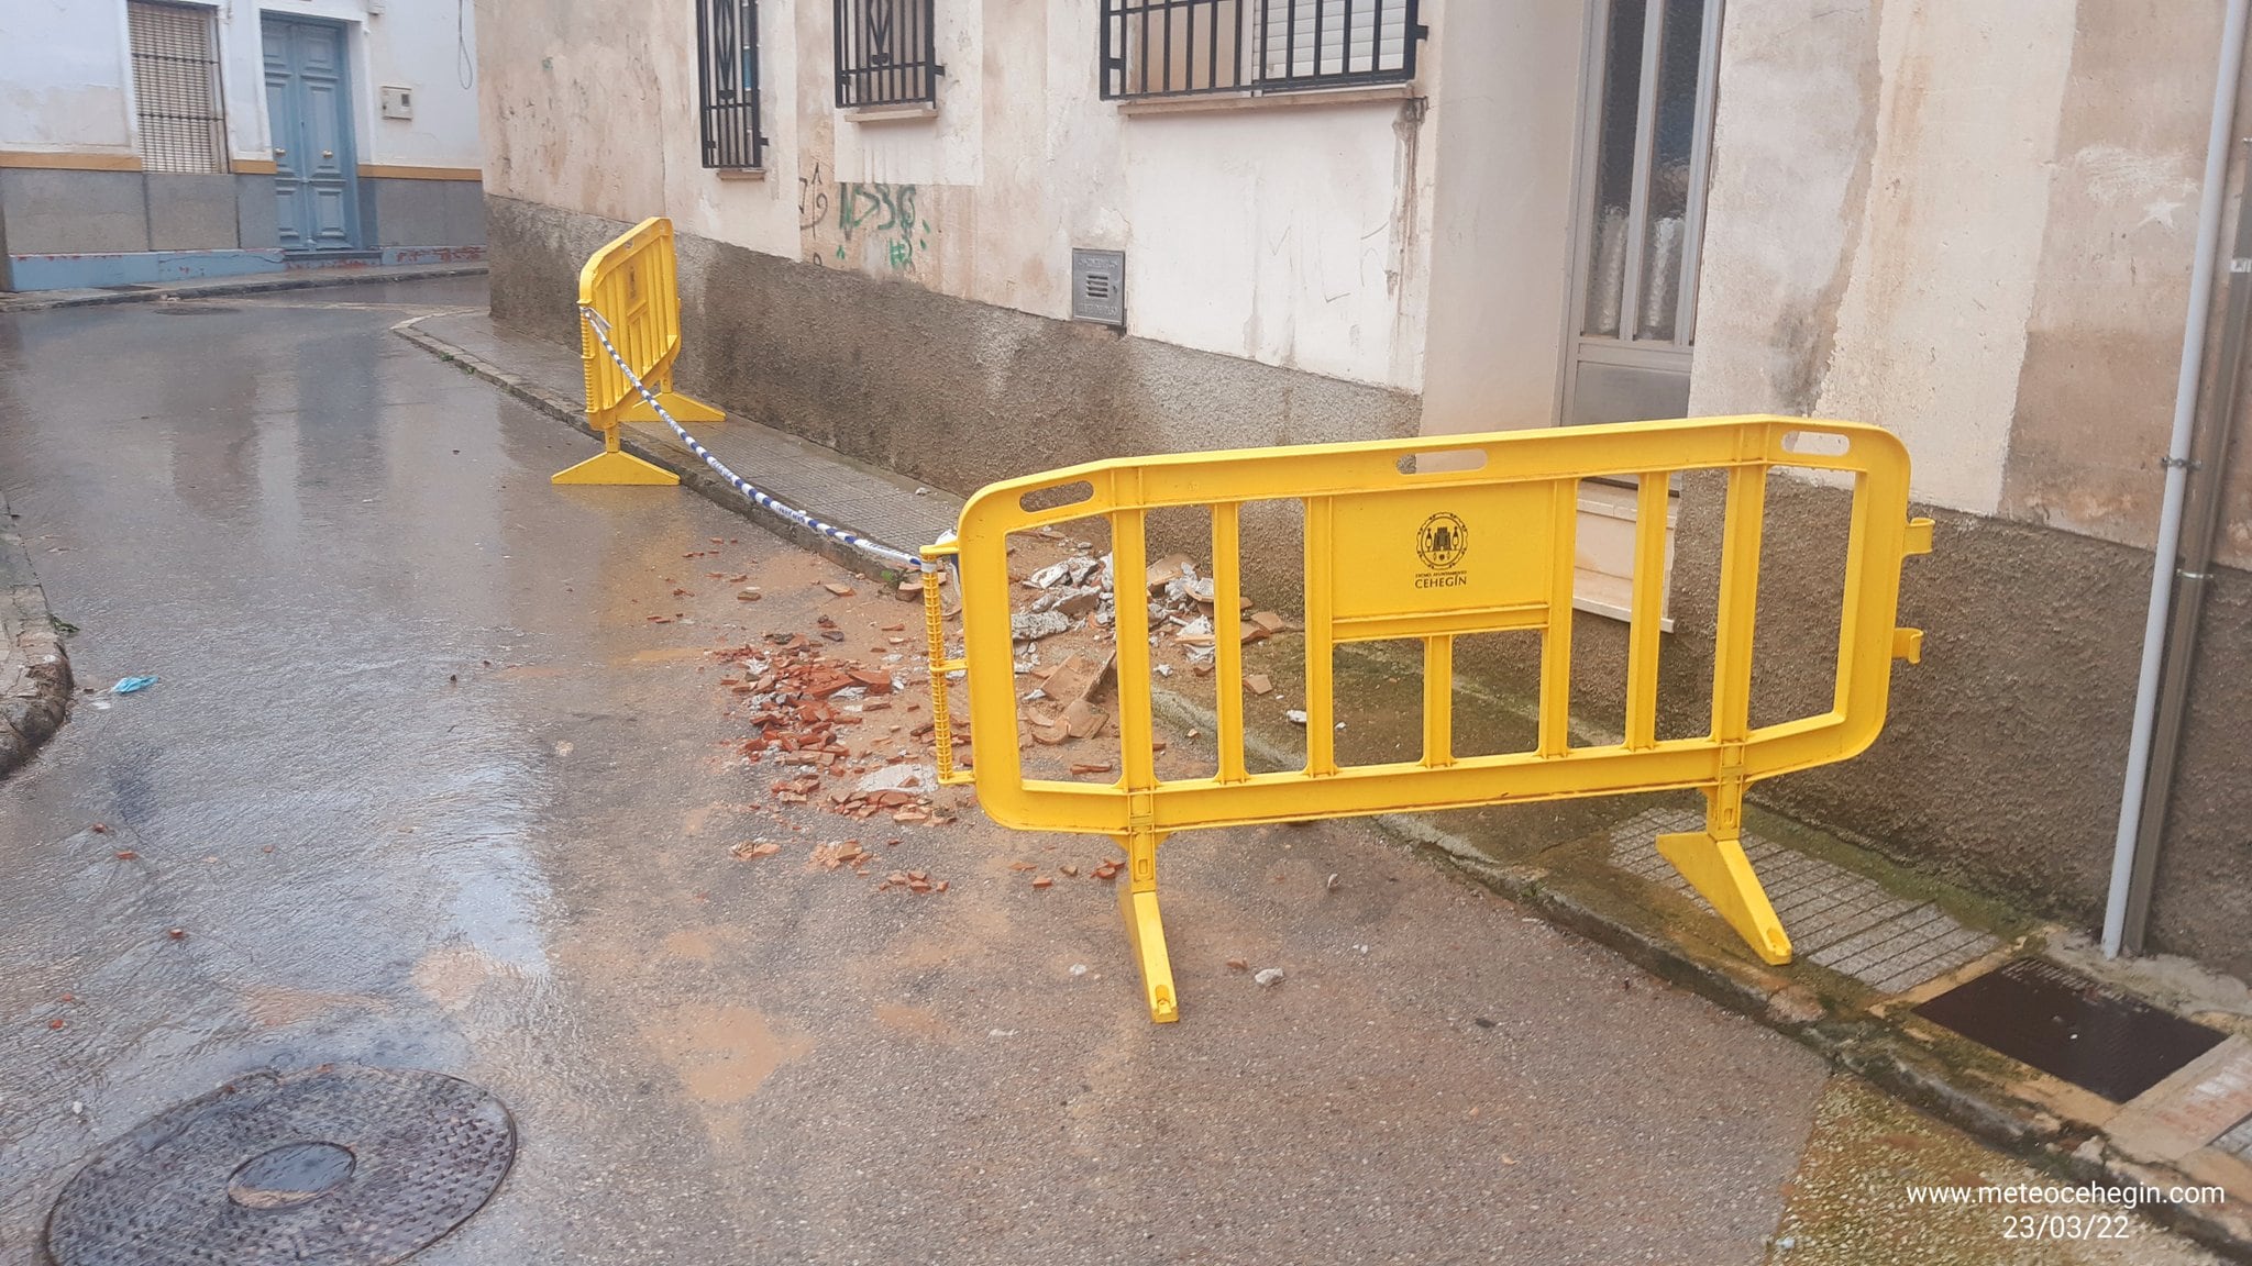
[[1995,514],[2074,23],[2072,0],[1727,7],[1691,412],[1874,421],[1916,500]]

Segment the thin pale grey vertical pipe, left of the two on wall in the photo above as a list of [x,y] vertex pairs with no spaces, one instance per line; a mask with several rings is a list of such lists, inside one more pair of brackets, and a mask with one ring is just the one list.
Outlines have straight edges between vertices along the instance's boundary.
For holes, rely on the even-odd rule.
[[2198,417],[2198,378],[2205,372],[2205,324],[2214,300],[2214,261],[2220,255],[2220,196],[2236,126],[2236,90],[2245,59],[2245,9],[2227,0],[2220,25],[2220,72],[2214,81],[2214,119],[2205,137],[2205,191],[2198,200],[2198,252],[2189,273],[2189,320],[2182,329],[2182,372],[2173,383],[2173,437],[2166,444],[2166,496],[2151,552],[2151,608],[2142,624],[2142,667],[2135,676],[2135,723],[2128,730],[2126,786],[2119,793],[2119,831],[2112,836],[2110,894],[2103,901],[2103,957],[2119,957],[2126,937],[2128,890],[2135,881],[2135,840],[2142,833],[2142,793],[2151,777],[2151,734],[2157,721],[2160,665],[2166,653],[2166,610],[2173,606],[2175,552],[2182,543],[2182,500],[2189,491],[2189,442]]

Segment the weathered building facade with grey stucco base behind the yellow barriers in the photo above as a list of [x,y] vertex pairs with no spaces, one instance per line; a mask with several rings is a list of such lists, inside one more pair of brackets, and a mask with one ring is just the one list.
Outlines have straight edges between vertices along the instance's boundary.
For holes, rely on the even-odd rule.
[[[482,56],[493,313],[574,340],[586,255],[671,216],[691,390],[953,491],[1243,444],[1887,426],[1939,518],[1905,588],[1925,665],[1876,750],[1761,791],[2092,924],[2223,7],[484,0],[520,32]],[[2252,487],[2225,493],[2148,939],[2252,971]],[[1844,496],[1770,493],[1775,707],[1826,698]],[[1633,500],[1583,489],[1597,615]],[[1696,725],[1718,482],[1673,507],[1664,676]],[[1581,624],[1574,662],[1617,667],[1624,626]]]

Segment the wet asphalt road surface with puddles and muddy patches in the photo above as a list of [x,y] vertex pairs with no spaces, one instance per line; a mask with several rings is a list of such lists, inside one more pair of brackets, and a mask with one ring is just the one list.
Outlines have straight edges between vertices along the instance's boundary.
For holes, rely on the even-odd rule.
[[385,333],[480,302],[0,318],[81,683],[162,678],[0,784],[0,1261],[104,1140],[322,1061],[513,1108],[430,1264],[1763,1259],[1820,1061],[1374,829],[1167,845],[1167,1029],[1110,892],[1011,870],[1094,845],[971,809],[887,827],[941,897],[808,870],[863,829],[761,818],[703,651],[908,608],[689,493],[549,487],[588,439]]

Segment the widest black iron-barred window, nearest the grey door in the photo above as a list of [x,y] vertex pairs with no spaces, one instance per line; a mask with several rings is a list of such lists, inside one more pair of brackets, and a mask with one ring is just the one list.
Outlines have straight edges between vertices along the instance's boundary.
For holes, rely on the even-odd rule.
[[1405,83],[1419,0],[1101,0],[1103,97]]

